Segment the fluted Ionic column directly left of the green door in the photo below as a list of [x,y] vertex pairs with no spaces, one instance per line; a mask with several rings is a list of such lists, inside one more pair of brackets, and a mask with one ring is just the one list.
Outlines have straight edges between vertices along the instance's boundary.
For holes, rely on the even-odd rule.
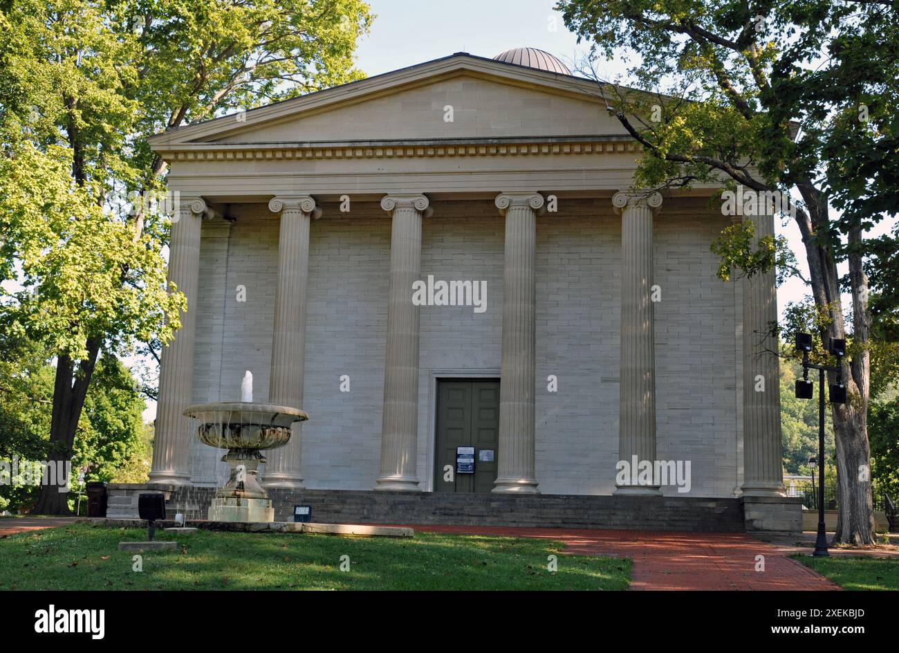
[[417,490],[419,309],[412,285],[421,277],[422,194],[387,195],[381,208],[391,214],[390,290],[387,304],[387,360],[381,471],[375,489]]

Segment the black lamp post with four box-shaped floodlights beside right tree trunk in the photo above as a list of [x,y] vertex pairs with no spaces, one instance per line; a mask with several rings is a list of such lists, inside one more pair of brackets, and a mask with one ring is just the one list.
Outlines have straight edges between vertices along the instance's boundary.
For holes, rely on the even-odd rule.
[[[824,527],[824,372],[835,371],[837,382],[830,387],[832,404],[846,403],[846,387],[842,384],[842,365],[815,365],[808,361],[808,353],[812,351],[812,335],[797,333],[797,352],[802,352],[802,379],[796,380],[796,396],[799,399],[812,398],[812,381],[808,380],[808,371],[818,371],[818,536],[814,541],[814,556],[829,556],[827,550],[827,532]],[[837,357],[838,362],[846,354],[846,341],[842,338],[831,338],[827,351]],[[809,461],[811,463],[811,461]],[[814,472],[812,474],[814,488]]]

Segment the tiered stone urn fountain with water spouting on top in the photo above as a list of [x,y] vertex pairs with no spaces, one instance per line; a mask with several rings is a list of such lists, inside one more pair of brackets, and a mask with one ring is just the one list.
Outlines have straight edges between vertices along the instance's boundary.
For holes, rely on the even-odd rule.
[[209,506],[209,521],[273,522],[271,499],[256,478],[265,462],[262,452],[287,444],[291,425],[309,416],[299,408],[254,402],[249,371],[241,389],[242,401],[198,404],[184,411],[198,420],[201,443],[228,450],[221,460],[230,466],[230,475]]

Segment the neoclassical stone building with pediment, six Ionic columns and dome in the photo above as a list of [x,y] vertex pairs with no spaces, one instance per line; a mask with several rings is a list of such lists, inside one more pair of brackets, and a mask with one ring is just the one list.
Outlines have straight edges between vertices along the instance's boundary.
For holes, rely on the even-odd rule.
[[[269,488],[778,501],[773,277],[716,278],[720,189],[632,191],[636,142],[557,59],[456,53],[150,142],[188,300],[156,485],[221,483],[182,412],[249,370],[310,416]],[[689,488],[622,482],[632,456]]]

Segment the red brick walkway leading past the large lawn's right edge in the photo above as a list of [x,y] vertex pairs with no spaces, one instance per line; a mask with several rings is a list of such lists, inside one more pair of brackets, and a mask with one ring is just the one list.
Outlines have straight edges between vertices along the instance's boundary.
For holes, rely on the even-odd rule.
[[[745,533],[648,532],[493,526],[416,526],[416,531],[565,542],[565,553],[630,558],[636,590],[838,590],[823,576],[789,559],[777,547]],[[755,557],[765,570],[755,571]]]

